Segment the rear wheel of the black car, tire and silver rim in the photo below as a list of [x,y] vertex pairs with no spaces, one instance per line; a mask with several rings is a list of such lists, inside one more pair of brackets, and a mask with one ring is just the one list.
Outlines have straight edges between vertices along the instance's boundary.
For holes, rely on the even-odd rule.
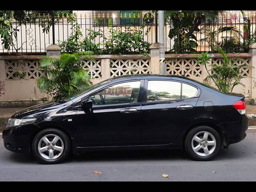
[[218,154],[220,146],[220,134],[210,126],[198,126],[193,128],[188,132],[185,139],[186,153],[197,161],[212,160],[212,158]]

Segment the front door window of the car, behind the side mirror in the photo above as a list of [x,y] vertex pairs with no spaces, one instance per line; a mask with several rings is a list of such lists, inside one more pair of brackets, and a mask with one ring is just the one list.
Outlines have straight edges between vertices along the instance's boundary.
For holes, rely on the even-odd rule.
[[110,86],[90,95],[93,105],[134,103],[138,101],[140,81],[125,82]]

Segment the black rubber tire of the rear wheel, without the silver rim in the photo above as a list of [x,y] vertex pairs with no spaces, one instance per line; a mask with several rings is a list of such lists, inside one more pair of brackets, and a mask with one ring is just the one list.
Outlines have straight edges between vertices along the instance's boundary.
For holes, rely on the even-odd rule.
[[[207,156],[200,156],[198,154],[196,154],[196,152],[194,152],[194,150],[192,149],[192,139],[193,137],[199,133],[199,132],[202,132],[202,131],[206,131],[206,132],[209,132],[211,133],[215,140],[216,140],[216,147],[214,149],[214,151],[207,155]],[[185,138],[185,150],[186,150],[186,153],[194,160],[197,160],[197,161],[208,161],[208,160],[212,160],[212,158],[214,158],[219,150],[220,150],[220,146],[221,146],[221,138],[220,138],[220,134],[218,134],[218,132],[214,129],[214,128],[211,128],[209,126],[198,126],[198,127],[195,127],[193,128],[192,130],[190,130]]]

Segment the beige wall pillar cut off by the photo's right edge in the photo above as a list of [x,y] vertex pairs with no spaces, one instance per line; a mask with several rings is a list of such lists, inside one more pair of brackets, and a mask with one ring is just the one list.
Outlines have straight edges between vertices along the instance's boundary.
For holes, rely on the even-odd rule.
[[[249,46],[250,54],[252,54],[252,57],[250,59],[250,66],[252,66],[252,75],[251,77],[256,77],[256,43],[250,44]],[[256,79],[252,79],[252,86],[251,86],[251,98],[256,99]]]

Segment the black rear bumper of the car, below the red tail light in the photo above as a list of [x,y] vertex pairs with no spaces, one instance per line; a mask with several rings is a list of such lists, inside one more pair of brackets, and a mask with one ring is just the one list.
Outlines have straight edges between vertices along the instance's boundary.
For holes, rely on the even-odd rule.
[[219,124],[226,140],[226,146],[237,143],[246,138],[246,130],[248,129],[248,118],[246,114],[241,115],[240,121]]

